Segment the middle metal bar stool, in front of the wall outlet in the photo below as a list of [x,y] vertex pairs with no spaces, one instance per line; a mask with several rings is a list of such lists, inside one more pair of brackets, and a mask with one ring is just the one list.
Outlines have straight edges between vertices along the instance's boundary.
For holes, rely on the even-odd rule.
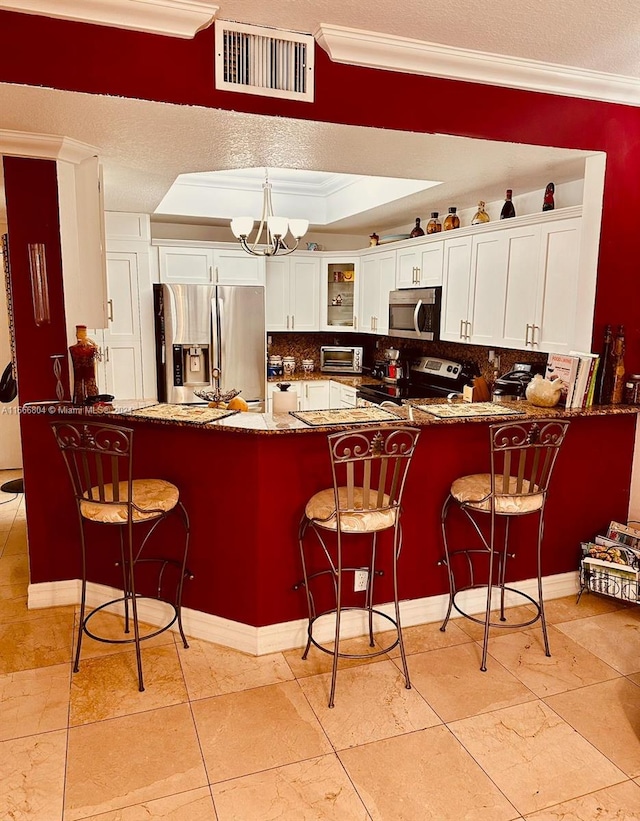
[[[398,602],[397,562],[402,548],[401,502],[407,472],[415,451],[420,431],[410,427],[370,427],[351,430],[347,433],[330,434],[327,437],[333,487],[321,490],[309,499],[300,522],[299,546],[302,560],[303,581],[295,589],[304,586],[307,594],[309,622],[307,644],[302,655],[307,658],[313,644],[318,649],[333,656],[329,707],[334,706],[338,659],[372,658],[388,653],[400,646],[400,655],[407,689],[411,688],[409,670],[402,640],[400,608]],[[312,568],[312,546],[305,544],[307,530],[312,530],[320,546],[320,569]],[[393,575],[393,600],[395,616],[390,616],[374,607],[374,579],[383,575],[378,569],[378,535],[390,531],[390,565]],[[344,557],[346,536],[370,536],[368,562],[363,568],[357,567]],[[380,551],[382,552],[382,551]],[[348,554],[350,559],[355,553]],[[316,560],[317,561],[317,560]],[[364,605],[345,606],[343,604],[345,574],[354,579],[358,571],[366,571]],[[330,606],[319,611],[316,607],[314,582],[321,578],[330,580],[326,604]],[[355,585],[354,585],[355,586]],[[321,592],[321,591],[318,591]],[[374,615],[390,622],[396,630],[392,644],[382,650],[365,654],[340,652],[341,617],[346,610],[357,610],[366,615],[370,647],[375,647]],[[325,647],[313,635],[314,625],[323,616],[335,619],[333,648]]]

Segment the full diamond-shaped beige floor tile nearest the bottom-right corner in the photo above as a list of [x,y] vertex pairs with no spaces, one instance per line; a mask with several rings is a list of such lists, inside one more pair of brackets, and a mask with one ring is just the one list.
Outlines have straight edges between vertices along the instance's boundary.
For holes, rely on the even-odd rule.
[[523,815],[626,780],[541,701],[455,721],[449,729]]

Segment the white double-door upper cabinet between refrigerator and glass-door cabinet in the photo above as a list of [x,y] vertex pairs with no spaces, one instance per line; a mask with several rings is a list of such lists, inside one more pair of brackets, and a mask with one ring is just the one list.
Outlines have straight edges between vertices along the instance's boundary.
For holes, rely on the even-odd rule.
[[266,276],[267,331],[320,330],[320,259],[270,257]]

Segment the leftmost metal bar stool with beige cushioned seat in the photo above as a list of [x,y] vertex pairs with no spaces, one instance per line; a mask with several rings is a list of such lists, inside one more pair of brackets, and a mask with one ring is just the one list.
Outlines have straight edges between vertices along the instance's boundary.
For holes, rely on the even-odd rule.
[[[80,544],[82,551],[82,596],[80,620],[73,671],[80,664],[83,634],[96,641],[113,644],[135,644],[138,668],[138,687],[144,691],[142,655],[140,643],[168,630],[177,622],[185,647],[187,638],[182,627],[182,588],[184,580],[193,578],[187,569],[189,547],[189,517],[180,501],[178,488],[164,479],[133,478],[133,429],[102,422],[52,422],[56,442],[62,452],[78,511]],[[177,513],[184,527],[184,546],[177,556],[149,556],[147,545],[161,522],[171,513]],[[104,602],[86,613],[88,535],[91,528],[107,525],[117,528],[120,540],[120,564],[122,568],[123,595]],[[138,590],[138,575],[142,567],[155,568],[153,595]],[[173,577],[170,582],[169,577]],[[144,582],[148,584],[145,578]],[[169,593],[170,585],[175,590]],[[170,607],[170,617],[153,632],[140,635],[138,601],[140,599],[162,601]],[[105,638],[93,633],[90,621],[107,607],[122,603],[124,609],[124,633],[132,638]],[[131,618],[129,617],[131,608]]]

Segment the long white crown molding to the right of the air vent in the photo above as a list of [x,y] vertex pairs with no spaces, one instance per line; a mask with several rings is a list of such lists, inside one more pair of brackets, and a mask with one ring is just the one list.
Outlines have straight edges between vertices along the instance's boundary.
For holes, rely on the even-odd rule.
[[447,80],[640,105],[640,78],[443,46],[321,23],[314,34],[336,63]]

